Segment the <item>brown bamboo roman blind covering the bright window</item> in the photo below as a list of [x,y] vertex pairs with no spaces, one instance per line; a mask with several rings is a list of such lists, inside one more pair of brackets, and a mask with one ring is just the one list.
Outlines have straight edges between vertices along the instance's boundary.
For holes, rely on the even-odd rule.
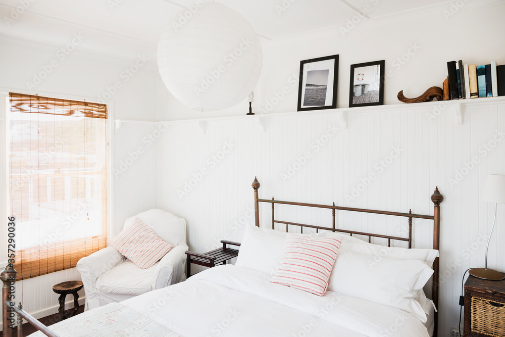
[[9,93],[18,280],[107,247],[107,106]]

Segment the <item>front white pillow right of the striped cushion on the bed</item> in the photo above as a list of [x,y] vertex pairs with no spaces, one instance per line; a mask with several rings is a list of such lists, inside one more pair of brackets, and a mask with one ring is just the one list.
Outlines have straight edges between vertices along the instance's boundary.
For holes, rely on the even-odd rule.
[[382,258],[370,264],[370,256],[340,249],[333,266],[328,291],[354,296],[407,311],[426,322],[418,291],[433,274],[419,260]]

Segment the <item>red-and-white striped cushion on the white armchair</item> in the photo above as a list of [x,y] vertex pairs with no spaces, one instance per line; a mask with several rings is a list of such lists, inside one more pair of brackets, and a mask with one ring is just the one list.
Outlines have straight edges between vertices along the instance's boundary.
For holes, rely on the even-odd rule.
[[172,248],[139,218],[135,218],[130,226],[114,237],[109,246],[126,256],[140,269],[153,266]]

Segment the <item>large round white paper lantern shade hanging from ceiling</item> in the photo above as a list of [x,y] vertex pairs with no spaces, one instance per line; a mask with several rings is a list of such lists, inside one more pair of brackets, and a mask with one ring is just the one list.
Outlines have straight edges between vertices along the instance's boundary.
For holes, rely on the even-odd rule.
[[[200,111],[243,102],[263,66],[260,40],[240,14],[218,3],[181,11],[158,44],[158,67],[168,90]],[[193,13],[194,12],[194,13]]]

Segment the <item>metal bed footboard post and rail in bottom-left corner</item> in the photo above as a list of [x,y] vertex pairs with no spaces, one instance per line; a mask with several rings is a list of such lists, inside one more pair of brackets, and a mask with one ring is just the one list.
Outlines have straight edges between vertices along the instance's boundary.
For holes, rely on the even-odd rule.
[[3,282],[2,285],[2,333],[4,337],[14,336],[14,321],[17,314],[17,336],[23,336],[23,318],[26,319],[31,325],[33,325],[37,330],[41,331],[46,336],[59,337],[58,334],[51,331],[44,324],[40,323],[36,318],[23,310],[21,302],[19,306],[16,307],[14,303],[14,281],[16,279],[17,272],[12,264],[8,264],[2,273],[0,273],[0,279]]

